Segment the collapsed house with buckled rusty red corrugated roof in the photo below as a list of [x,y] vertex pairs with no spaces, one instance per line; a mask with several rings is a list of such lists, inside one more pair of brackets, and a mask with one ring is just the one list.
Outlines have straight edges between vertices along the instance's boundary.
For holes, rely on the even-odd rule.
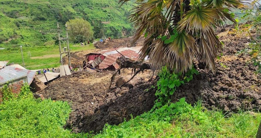
[[83,69],[109,69],[115,70],[119,68],[116,63],[118,57],[125,56],[132,60],[138,60],[141,46],[137,47],[121,47],[115,49],[102,50],[96,53],[84,55]]

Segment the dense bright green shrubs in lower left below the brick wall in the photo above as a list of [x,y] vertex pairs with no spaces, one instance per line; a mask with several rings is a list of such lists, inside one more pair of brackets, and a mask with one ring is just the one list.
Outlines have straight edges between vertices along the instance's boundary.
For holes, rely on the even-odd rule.
[[[28,90],[28,86],[24,87]],[[71,134],[63,128],[71,109],[67,102],[27,98],[5,101],[0,105],[1,138],[73,138],[87,134]]]

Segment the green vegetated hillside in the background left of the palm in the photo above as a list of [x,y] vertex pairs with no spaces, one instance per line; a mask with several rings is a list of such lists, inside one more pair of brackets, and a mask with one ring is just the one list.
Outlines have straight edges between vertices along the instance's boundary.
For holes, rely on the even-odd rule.
[[64,35],[64,23],[75,18],[92,27],[101,21],[106,37],[128,36],[133,30],[127,18],[132,7],[132,3],[120,7],[118,0],[0,0],[0,47],[52,44],[57,22]]

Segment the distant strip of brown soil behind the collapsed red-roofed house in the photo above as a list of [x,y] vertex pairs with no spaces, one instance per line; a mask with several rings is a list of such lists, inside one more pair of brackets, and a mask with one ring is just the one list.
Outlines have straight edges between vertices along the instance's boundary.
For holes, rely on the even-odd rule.
[[131,37],[128,38],[120,38],[120,39],[112,39],[111,41],[106,40],[105,43],[96,43],[97,48],[99,49],[107,49],[107,48],[118,48],[118,47],[134,47],[134,46],[143,46],[145,41],[144,37],[140,37],[134,45],[131,45]]

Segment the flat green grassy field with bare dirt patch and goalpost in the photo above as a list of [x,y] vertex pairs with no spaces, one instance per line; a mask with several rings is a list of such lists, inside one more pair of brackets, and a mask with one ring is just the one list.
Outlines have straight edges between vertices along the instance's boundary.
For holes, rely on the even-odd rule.
[[[92,44],[89,46],[70,46],[72,52],[81,50],[94,49]],[[31,52],[32,58],[28,57],[28,51]],[[65,54],[63,54],[65,56]],[[43,69],[43,68],[53,68],[60,65],[60,55],[58,46],[38,46],[38,47],[23,47],[23,57],[26,69]],[[34,58],[36,57],[36,58]],[[14,62],[15,64],[22,63],[21,50],[0,50],[1,61],[9,61],[9,63]]]

